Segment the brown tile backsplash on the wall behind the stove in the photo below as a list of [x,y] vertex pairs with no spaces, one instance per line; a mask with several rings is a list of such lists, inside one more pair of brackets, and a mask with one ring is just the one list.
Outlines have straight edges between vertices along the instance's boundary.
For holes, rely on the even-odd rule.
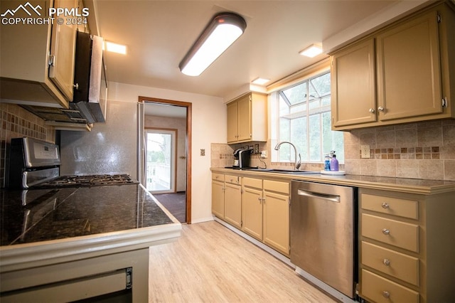
[[4,187],[6,164],[9,155],[6,147],[11,138],[32,137],[55,143],[55,128],[45,125],[44,120],[22,107],[0,101],[0,188]]

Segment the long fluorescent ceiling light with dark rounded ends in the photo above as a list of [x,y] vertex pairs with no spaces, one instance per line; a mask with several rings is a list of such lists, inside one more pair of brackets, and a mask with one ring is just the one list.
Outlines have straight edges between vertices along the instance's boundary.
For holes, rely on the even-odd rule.
[[198,40],[191,46],[178,65],[185,75],[200,75],[247,28],[245,19],[233,13],[220,13],[213,17]]

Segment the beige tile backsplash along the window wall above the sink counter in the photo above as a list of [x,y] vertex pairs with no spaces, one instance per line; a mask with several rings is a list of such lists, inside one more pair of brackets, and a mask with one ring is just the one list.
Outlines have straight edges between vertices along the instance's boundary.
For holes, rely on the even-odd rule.
[[[252,142],[259,151],[267,150],[270,141]],[[360,157],[360,146],[368,145],[370,158]],[[211,166],[232,166],[233,151],[242,144],[214,143],[211,146]],[[344,164],[346,174],[364,176],[388,176],[411,179],[455,181],[455,119],[387,127],[370,127],[344,132]],[[259,154],[252,156],[252,166],[264,164]],[[263,159],[267,167],[288,168],[293,163],[271,162]],[[321,163],[303,163],[301,169],[317,171]]]

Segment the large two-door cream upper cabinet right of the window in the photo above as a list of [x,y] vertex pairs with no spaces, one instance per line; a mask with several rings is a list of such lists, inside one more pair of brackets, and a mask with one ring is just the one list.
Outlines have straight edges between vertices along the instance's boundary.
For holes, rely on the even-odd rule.
[[454,118],[454,37],[440,4],[332,53],[332,128]]

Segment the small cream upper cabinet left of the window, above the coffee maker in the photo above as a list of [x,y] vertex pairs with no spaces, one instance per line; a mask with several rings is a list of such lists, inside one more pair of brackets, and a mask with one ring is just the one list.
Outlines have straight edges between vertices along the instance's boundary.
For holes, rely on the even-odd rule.
[[267,141],[267,95],[250,92],[227,107],[228,144]]

